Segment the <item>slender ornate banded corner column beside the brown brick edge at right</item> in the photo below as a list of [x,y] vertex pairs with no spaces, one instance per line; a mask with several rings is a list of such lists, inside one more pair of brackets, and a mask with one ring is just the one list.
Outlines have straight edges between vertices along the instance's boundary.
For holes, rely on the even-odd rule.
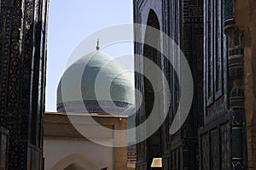
[[[234,2],[224,1],[224,31],[229,39],[228,59],[230,76],[230,109],[232,110],[232,136],[230,149],[232,150],[233,169],[247,168],[247,146],[245,128],[245,104],[244,104],[244,47],[243,33],[235,26],[233,14]],[[230,22],[233,20],[233,22]]]

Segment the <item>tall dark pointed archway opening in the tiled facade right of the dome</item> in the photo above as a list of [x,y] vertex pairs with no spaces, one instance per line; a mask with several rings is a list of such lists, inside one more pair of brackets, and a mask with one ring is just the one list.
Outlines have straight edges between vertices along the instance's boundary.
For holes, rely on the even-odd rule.
[[[157,17],[157,14],[154,13],[154,10],[150,9],[148,14],[148,22],[147,26],[154,27],[155,29],[160,30],[160,22]],[[153,47],[147,45],[152,44]],[[150,59],[154,62],[155,65],[158,65],[161,68],[162,56],[160,51],[160,31],[158,33],[152,33],[149,29],[146,29],[144,44],[143,44],[143,56],[147,59]],[[147,72],[147,75],[150,77],[154,77],[156,79],[157,84],[154,84],[154,89],[152,83],[148,81],[146,77],[143,77],[144,84],[144,111],[143,115],[146,119],[152,109],[154,104],[157,105],[157,111],[159,114],[164,113],[164,105],[162,102],[163,99],[163,88],[162,88],[162,77],[160,75],[155,75],[155,72],[152,71],[149,65],[144,61],[143,62],[143,72],[144,74]],[[159,83],[159,84],[158,84]],[[156,88],[155,88],[156,86]],[[156,90],[156,91],[154,91]],[[157,121],[157,120],[156,120]],[[150,125],[147,129],[151,128]],[[145,149],[148,156],[148,167],[150,167],[151,161],[154,157],[161,157],[161,141],[160,141],[160,129],[158,129],[152,136],[147,139],[147,149]]]

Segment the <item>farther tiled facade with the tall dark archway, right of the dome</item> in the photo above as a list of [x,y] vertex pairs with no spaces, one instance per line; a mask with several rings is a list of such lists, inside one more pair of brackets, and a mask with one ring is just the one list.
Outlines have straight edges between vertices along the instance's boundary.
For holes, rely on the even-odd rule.
[[[202,89],[203,89],[203,4],[202,1],[134,1],[134,20],[136,23],[152,26],[171,37],[174,42],[183,50],[183,54],[189,60],[190,68],[193,72],[195,81],[195,100],[189,113],[187,121],[177,133],[170,135],[169,129],[175,117],[178,106],[178,79],[171,65],[163,54],[153,52],[154,49],[136,43],[135,53],[152,59],[159,65],[167,79],[167,86],[170,87],[170,94],[166,94],[165,88],[161,88],[159,93],[160,100],[170,101],[170,108],[160,109],[160,115],[167,115],[166,121],[154,133],[153,136],[142,143],[137,144],[137,169],[149,169],[154,157],[162,157],[165,169],[198,169],[197,150],[198,150],[198,126],[202,123]],[[160,35],[147,34],[137,31],[137,42],[147,42],[158,39],[158,45],[166,54],[172,55],[172,59],[177,61],[175,52],[168,47],[164,41],[160,41]],[[144,35],[144,36],[143,36]],[[158,37],[156,37],[158,36]],[[144,39],[137,40],[137,38]],[[194,42],[194,43],[192,43]],[[157,44],[156,44],[157,46]],[[135,71],[145,73],[148,71],[147,65],[143,64],[142,57],[135,58]],[[177,62],[176,62],[177,64]],[[152,73],[154,74],[154,73]],[[137,113],[137,124],[145,121],[150,114],[150,105],[154,104],[154,91],[146,78],[136,74],[136,88],[144,95],[143,106]],[[164,84],[162,84],[164,87]],[[169,97],[171,96],[171,97]],[[165,106],[160,106],[163,108]],[[168,111],[169,110],[169,111]],[[200,114],[198,114],[200,113]],[[145,130],[147,131],[147,130]],[[140,133],[137,132],[139,138]]]

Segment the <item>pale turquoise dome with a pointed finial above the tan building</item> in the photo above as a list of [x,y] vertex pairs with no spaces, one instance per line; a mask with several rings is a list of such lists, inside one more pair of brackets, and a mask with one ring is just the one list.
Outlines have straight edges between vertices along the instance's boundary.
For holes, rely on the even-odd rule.
[[131,75],[119,62],[101,51],[86,54],[69,66],[61,77],[57,89],[57,110],[65,103],[65,110],[73,111],[66,104],[79,108],[74,104],[77,101],[92,102],[91,105],[95,105],[95,101],[108,103],[111,100],[108,97],[109,87],[115,105],[133,103]]

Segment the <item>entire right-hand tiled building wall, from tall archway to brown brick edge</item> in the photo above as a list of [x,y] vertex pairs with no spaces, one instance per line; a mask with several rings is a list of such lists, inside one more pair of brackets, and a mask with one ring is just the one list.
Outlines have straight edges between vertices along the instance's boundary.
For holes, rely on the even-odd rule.
[[[256,37],[252,4],[233,0],[134,1],[134,22],[171,37],[188,60],[194,81],[189,116],[177,133],[170,134],[180,102],[180,86],[173,69],[173,65],[179,65],[179,55],[161,34],[135,26],[135,71],[154,74],[145,62],[145,58],[151,59],[167,80],[167,84],[160,81],[161,90],[154,92],[146,77],[135,75],[136,88],[143,94],[143,105],[137,105],[137,125],[147,119],[153,104],[162,108],[159,116],[166,115],[154,135],[137,144],[138,170],[150,169],[156,157],[162,158],[163,169],[253,169],[252,47]],[[148,42],[160,46],[160,51],[149,47]],[[173,65],[163,54],[172,56]],[[164,101],[170,103],[169,108],[161,104]],[[137,131],[137,138],[147,130]]]

